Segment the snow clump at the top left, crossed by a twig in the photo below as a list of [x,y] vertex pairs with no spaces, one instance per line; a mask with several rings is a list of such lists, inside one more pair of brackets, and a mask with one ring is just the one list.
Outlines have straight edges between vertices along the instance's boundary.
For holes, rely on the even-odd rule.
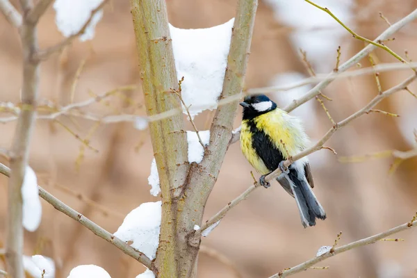
[[[54,10],[56,11],[55,22],[58,30],[65,36],[70,37],[78,33],[85,22],[90,18],[92,10],[97,8],[103,0],[56,0]],[[94,17],[85,32],[80,36],[80,41],[91,40],[95,35],[95,26],[103,17],[103,10],[95,13]]]

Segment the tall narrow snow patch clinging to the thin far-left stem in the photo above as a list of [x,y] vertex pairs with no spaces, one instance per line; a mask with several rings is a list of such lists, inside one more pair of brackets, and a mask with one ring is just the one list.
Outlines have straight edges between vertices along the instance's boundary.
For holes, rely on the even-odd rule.
[[28,231],[36,231],[42,218],[38,179],[33,169],[26,166],[22,185],[23,227]]

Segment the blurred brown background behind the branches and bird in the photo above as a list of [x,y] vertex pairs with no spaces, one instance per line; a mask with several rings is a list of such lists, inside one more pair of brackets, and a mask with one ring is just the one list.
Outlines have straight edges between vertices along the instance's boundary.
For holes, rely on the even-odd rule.
[[[277,74],[285,72],[306,74],[297,50],[300,45],[295,44],[291,37],[297,28],[279,17],[280,7],[291,9],[283,6],[291,5],[289,1],[280,5],[274,3],[277,2],[274,0],[259,1],[247,71],[247,88],[272,85]],[[316,20],[328,17],[325,13],[318,17],[305,17],[303,9],[309,5],[304,1],[294,2],[300,2],[298,8],[293,8],[294,22],[299,20],[298,15],[303,17],[300,21],[307,21],[314,26]],[[417,8],[413,0],[332,2],[334,6],[349,6],[350,26],[370,39],[376,38],[387,27],[386,22],[379,18],[379,11],[391,22],[396,22]],[[167,7],[170,22],[174,26],[205,28],[222,24],[234,17],[236,1],[167,0]],[[342,9],[346,11],[346,8]],[[54,10],[50,8],[40,21],[38,33],[41,47],[62,40],[54,24],[54,15]],[[313,37],[315,32],[326,28],[308,28],[309,25],[304,31]],[[354,40],[340,26],[332,25],[332,28],[340,32],[340,38],[328,35],[322,43],[333,42],[336,47],[340,44],[341,62],[363,47],[363,42]],[[394,35],[395,40],[387,44],[402,56],[404,49],[408,49],[409,56],[416,60],[416,28],[417,22],[404,27]],[[328,51],[326,57],[310,53],[309,47],[311,45],[305,46],[307,55],[314,61],[313,66],[318,72],[332,70],[336,47]],[[321,44],[318,49],[320,47]],[[22,83],[20,50],[17,31],[1,15],[0,101],[19,102]],[[376,51],[376,54],[380,62],[395,62],[392,56],[383,51]],[[106,6],[92,41],[77,41],[62,55],[55,55],[42,64],[40,101],[49,99],[60,105],[68,104],[76,70],[85,59],[74,101],[88,99],[90,91],[100,94],[122,85],[139,84],[128,0],[113,0],[111,5]],[[363,59],[361,65],[369,66],[368,60]],[[381,74],[382,88],[390,88],[408,74],[404,71]],[[416,83],[409,88],[417,92]],[[374,76],[369,75],[335,81],[324,93],[334,99],[325,102],[330,113],[336,120],[342,120],[375,96],[377,86]],[[291,94],[293,92],[282,92],[272,95],[272,98],[284,106],[284,99],[291,100],[294,97]],[[120,95],[127,96],[133,103]],[[120,95],[92,105],[88,111],[102,115],[144,115],[140,105],[140,89]],[[320,106],[313,100],[310,102],[309,106],[297,108],[294,113],[303,117],[312,140],[318,140],[331,127],[331,123]],[[413,147],[411,138],[413,128],[417,128],[417,99],[407,92],[398,92],[377,108],[398,113],[401,117],[393,118],[379,113],[363,116],[338,131],[327,142],[327,146],[336,149],[337,156],[326,150],[310,156],[316,180],[315,192],[327,211],[325,222],[320,221],[316,227],[303,229],[294,200],[276,183],[268,190],[256,190],[249,199],[230,211],[213,233],[203,238],[202,244],[227,256],[236,264],[243,277],[261,278],[312,258],[320,246],[332,245],[339,231],[343,231],[339,243],[342,245],[411,220],[417,208],[416,158],[402,163],[392,176],[388,174],[392,158],[371,159],[354,164],[338,163],[338,157],[341,156]],[[207,119],[211,115],[203,113],[197,116],[199,129],[207,129]],[[111,232],[116,231],[124,215],[133,208],[142,202],[158,199],[149,194],[150,186],[147,184],[153,156],[147,131],[138,131],[129,123],[110,124],[99,126],[90,137],[88,134],[95,128],[94,123],[67,117],[61,117],[60,120],[81,138],[90,138],[90,145],[99,152],[92,152],[88,148],[81,152],[81,142],[62,126],[38,121],[31,142],[30,161],[38,173],[40,185]],[[239,122],[240,115],[237,115],[236,127]],[[14,129],[15,122],[0,125],[1,148],[10,146]],[[80,152],[84,154],[81,162]],[[76,169],[76,161],[79,161],[79,170]],[[4,159],[1,162],[6,163]],[[206,218],[250,186],[250,170],[252,168],[240,153],[239,145],[231,146],[218,183],[208,200]],[[6,184],[7,179],[0,177],[1,244],[4,244],[6,238]],[[42,205],[44,214],[40,229],[25,234],[25,254],[38,252],[51,256],[57,264],[57,277],[67,277],[70,270],[79,264],[100,265],[113,278],[136,277],[143,271],[142,265],[94,236],[81,224],[55,211],[44,201]],[[395,237],[406,240],[380,242],[352,250],[319,264],[329,265],[327,270],[308,270],[297,277],[417,277],[417,231],[406,231]],[[0,267],[3,268],[1,262]],[[201,278],[235,277],[227,266],[204,253],[199,256],[198,269]]]

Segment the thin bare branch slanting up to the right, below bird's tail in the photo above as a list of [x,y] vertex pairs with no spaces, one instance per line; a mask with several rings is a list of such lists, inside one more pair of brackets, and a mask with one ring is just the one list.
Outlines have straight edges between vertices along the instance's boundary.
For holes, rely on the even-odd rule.
[[326,252],[325,254],[322,254],[321,256],[316,256],[316,258],[313,258],[309,261],[306,261],[304,263],[300,263],[300,265],[296,265],[293,268],[290,268],[288,270],[283,270],[275,275],[272,275],[269,278],[282,278],[287,277],[290,275],[294,275],[295,273],[302,272],[303,270],[306,270],[307,268],[310,268],[311,266],[315,265],[316,263],[319,263],[320,261],[324,261],[325,259],[329,259],[331,256],[335,256],[337,254],[352,250],[357,247],[365,246],[368,244],[376,243],[378,240],[381,240],[382,238],[386,238],[387,236],[391,236],[393,234],[397,234],[400,231],[404,231],[407,229],[411,229],[417,226],[417,221],[414,222],[407,222],[405,224],[402,224],[398,227],[395,227],[393,229],[389,229],[388,231],[384,231],[384,233],[376,234],[375,236],[370,236],[368,238],[363,238],[361,240],[354,241],[353,243],[349,243],[347,245],[343,245],[341,247],[334,248],[333,252]]

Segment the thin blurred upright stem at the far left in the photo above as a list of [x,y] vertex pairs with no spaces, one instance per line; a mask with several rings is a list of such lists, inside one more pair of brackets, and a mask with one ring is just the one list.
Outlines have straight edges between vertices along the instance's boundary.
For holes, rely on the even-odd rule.
[[[26,14],[32,8],[31,1],[21,1]],[[27,14],[26,14],[27,15]],[[38,50],[36,25],[23,18],[20,39],[23,49],[22,111],[17,120],[10,152],[11,175],[8,183],[8,225],[6,239],[7,270],[14,278],[23,278],[22,263],[22,183],[28,165],[29,143],[36,115],[39,85],[39,63],[33,59]]]

